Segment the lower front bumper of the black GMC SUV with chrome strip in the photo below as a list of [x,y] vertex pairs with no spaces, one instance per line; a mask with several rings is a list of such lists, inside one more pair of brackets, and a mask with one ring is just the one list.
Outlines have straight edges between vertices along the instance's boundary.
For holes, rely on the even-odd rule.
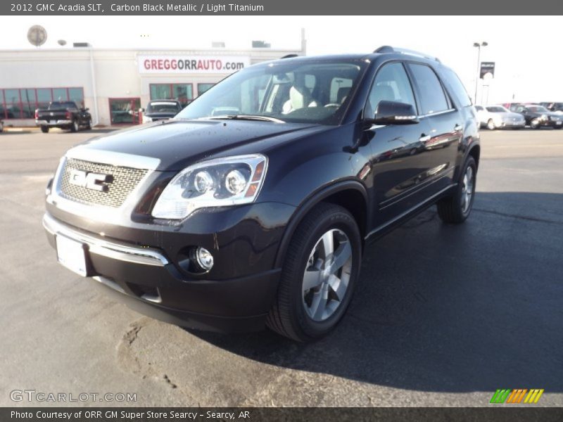
[[264,326],[280,269],[232,279],[191,279],[160,248],[103,238],[69,226],[47,213],[47,238],[82,243],[87,275],[118,293],[141,313],[179,326],[213,331],[255,331]]

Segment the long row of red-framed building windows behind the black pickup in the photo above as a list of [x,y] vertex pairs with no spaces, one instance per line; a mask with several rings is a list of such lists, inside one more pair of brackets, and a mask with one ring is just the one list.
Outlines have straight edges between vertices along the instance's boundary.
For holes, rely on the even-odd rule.
[[37,108],[46,108],[51,101],[69,100],[74,101],[78,107],[84,107],[84,89],[0,89],[0,119],[33,119]]

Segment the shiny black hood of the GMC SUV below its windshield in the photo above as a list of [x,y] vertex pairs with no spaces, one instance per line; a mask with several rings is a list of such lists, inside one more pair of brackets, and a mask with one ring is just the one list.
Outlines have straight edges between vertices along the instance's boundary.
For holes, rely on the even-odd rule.
[[[284,136],[296,136],[327,129],[318,124],[273,123],[241,120],[161,120],[122,129],[110,134],[97,136],[80,144],[84,150],[111,151],[115,153],[141,155],[157,158],[160,164],[156,170],[182,170],[194,162],[237,149],[236,155],[244,148],[260,153],[272,142],[282,142]],[[268,140],[266,144],[263,142]],[[262,143],[260,143],[262,141]],[[94,154],[93,154],[94,155]]]

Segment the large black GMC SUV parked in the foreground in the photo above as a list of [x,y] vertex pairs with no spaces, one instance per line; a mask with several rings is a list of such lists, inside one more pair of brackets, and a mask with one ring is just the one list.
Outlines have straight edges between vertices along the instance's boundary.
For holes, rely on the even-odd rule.
[[368,241],[433,204],[467,219],[479,152],[474,107],[437,59],[283,58],[70,149],[43,224],[61,264],[134,308],[306,341],[346,312]]

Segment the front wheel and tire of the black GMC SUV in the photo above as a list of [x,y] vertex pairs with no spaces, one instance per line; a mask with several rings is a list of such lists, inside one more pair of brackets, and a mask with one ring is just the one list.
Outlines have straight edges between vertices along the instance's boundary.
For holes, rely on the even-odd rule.
[[350,304],[361,252],[360,230],[350,212],[316,205],[289,243],[267,326],[300,342],[327,335]]

